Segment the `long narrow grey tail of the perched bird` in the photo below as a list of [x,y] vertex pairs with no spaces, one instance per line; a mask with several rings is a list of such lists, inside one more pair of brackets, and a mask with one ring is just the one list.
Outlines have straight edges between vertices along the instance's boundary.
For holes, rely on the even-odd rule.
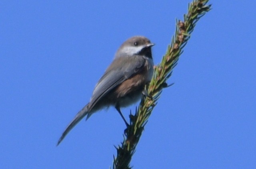
[[57,146],[60,144],[60,142],[66,137],[66,135],[70,132],[70,130],[72,130],[72,128],[74,128],[74,126],[76,126],[76,124],[78,124],[78,122],[80,122],[80,120],[82,120],[82,118],[84,118],[84,116],[87,115],[86,120],[88,119],[88,117],[92,114],[92,112],[90,110],[88,110],[88,104],[86,106],[84,106],[84,108],[82,108],[82,110],[80,110],[80,112],[78,112],[78,114],[76,114],[76,116],[74,117],[74,119],[70,122],[70,124],[68,124],[68,127],[65,129],[65,131],[62,133],[62,136],[60,137]]

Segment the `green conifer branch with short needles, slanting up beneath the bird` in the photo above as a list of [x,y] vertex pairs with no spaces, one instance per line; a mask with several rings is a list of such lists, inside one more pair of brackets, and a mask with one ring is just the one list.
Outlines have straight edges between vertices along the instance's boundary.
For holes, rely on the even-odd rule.
[[138,109],[136,108],[135,115],[130,113],[130,126],[124,131],[124,141],[116,147],[117,156],[114,157],[113,169],[131,169],[132,155],[162,89],[168,87],[166,81],[172,75],[172,70],[177,65],[196,23],[206,12],[210,11],[211,5],[207,4],[208,1],[194,0],[188,5],[188,14],[184,15],[184,21],[176,21],[176,31],[171,44],[168,45],[161,63],[154,68],[154,75],[150,84],[145,87],[148,96],[142,98]]

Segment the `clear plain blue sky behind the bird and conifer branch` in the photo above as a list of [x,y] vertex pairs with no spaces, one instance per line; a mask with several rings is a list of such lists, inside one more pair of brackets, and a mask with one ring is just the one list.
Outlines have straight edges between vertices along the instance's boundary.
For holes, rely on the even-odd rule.
[[[112,166],[125,129],[114,108],[56,143],[120,44],[144,35],[159,63],[188,2],[0,2],[0,168]],[[256,2],[210,3],[146,125],[134,169],[256,168]],[[126,118],[135,106],[122,109]]]

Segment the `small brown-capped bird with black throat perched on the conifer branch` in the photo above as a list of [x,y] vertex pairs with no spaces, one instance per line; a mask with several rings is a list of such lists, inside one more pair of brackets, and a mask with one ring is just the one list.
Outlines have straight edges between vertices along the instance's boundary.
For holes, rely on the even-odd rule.
[[68,124],[57,146],[66,135],[86,116],[86,120],[102,108],[114,106],[126,122],[121,107],[138,102],[146,94],[144,86],[153,76],[154,62],[151,43],[147,37],[130,37],[116,51],[114,60],[96,84],[90,102]]

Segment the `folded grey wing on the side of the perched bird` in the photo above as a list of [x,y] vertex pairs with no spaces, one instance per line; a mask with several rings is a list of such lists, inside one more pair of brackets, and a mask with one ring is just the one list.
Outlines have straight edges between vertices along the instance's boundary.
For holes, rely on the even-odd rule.
[[145,62],[146,60],[143,57],[137,55],[114,59],[94,88],[89,110],[91,110],[102,97],[106,96],[110,90],[132,77],[135,73],[141,71]]

